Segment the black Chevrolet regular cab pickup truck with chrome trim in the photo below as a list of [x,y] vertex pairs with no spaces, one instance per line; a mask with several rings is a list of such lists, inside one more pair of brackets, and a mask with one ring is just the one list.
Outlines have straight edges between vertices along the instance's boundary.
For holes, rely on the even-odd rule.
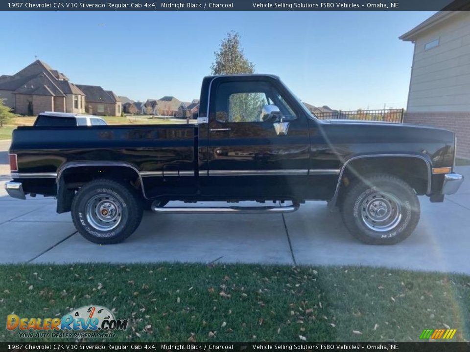
[[[282,213],[327,200],[353,236],[393,244],[415,229],[418,195],[442,202],[463,182],[453,172],[455,148],[446,130],[320,121],[276,76],[212,76],[203,80],[194,125],[19,127],[6,190],[55,196],[57,212],[71,211],[96,243],[125,240],[146,207]],[[170,200],[280,203],[165,207]]]

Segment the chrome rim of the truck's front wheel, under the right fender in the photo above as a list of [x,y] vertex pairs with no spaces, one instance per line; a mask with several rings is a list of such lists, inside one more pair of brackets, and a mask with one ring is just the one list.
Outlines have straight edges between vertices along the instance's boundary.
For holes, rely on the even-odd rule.
[[374,192],[362,201],[361,217],[373,231],[393,230],[401,220],[400,200],[390,193]]

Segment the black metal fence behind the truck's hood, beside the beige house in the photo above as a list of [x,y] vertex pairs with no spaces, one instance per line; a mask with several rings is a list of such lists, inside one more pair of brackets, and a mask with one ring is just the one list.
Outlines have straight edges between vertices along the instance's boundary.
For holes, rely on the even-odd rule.
[[364,120],[364,121],[383,121],[383,122],[403,122],[404,109],[385,109],[385,110],[353,110],[343,111],[335,110],[331,112],[315,112],[321,120],[345,119],[345,120]]

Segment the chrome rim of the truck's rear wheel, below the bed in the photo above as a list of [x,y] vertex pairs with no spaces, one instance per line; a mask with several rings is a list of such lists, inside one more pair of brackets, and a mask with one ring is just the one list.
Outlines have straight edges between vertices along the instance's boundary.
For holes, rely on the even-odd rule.
[[121,205],[110,195],[99,194],[90,198],[85,209],[88,222],[98,231],[112,230],[121,222]]

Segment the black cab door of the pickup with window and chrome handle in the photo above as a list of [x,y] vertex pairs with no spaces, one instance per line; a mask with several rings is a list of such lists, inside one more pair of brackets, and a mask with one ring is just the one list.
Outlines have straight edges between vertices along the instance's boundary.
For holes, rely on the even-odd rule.
[[[289,199],[305,184],[310,147],[306,118],[276,83],[253,76],[221,77],[212,83],[207,170],[199,172],[207,176],[200,177],[203,194]],[[276,124],[288,127],[284,135]]]

